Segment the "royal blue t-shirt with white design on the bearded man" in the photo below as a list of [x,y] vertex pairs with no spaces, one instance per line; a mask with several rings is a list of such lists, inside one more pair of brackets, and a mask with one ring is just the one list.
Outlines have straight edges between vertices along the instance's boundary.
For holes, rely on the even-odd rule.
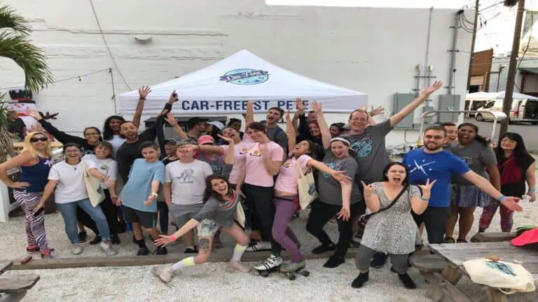
[[411,185],[425,185],[437,180],[429,196],[431,207],[450,206],[450,180],[453,175],[462,175],[469,171],[469,166],[460,157],[450,152],[426,153],[423,148],[411,150],[403,157],[403,164],[409,171]]

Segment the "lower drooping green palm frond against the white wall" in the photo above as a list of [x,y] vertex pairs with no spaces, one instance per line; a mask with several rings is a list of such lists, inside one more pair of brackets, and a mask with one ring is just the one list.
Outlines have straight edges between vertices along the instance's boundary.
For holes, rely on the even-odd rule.
[[54,82],[41,48],[33,45],[27,36],[14,32],[0,33],[0,57],[13,59],[25,71],[25,87],[33,92]]

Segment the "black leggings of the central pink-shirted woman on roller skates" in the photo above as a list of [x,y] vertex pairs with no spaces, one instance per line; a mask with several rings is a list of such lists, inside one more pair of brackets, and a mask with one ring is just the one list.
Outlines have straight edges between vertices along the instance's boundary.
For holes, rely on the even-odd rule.
[[244,184],[244,195],[251,213],[251,228],[260,230],[261,239],[271,242],[271,252],[280,255],[282,246],[273,239],[273,222],[275,222],[275,203],[273,187],[260,187]]

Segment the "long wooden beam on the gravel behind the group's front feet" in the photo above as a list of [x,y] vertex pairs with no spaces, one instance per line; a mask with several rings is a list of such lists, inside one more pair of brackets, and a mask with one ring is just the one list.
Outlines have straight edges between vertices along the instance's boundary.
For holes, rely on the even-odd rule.
[[[347,250],[346,258],[354,258],[357,248]],[[332,252],[324,254],[304,254],[307,260],[324,259],[330,257]],[[56,269],[56,268],[83,268],[83,267],[109,267],[109,266],[151,266],[160,264],[174,264],[193,254],[167,254],[165,256],[117,256],[117,257],[76,257],[76,258],[53,258],[53,259],[33,259],[27,264],[20,264],[20,261],[13,261],[12,270],[34,270],[34,269]],[[257,262],[267,259],[270,252],[249,252],[243,254],[241,261]],[[284,255],[284,259],[289,259]],[[230,255],[214,252],[208,262],[228,262]]]

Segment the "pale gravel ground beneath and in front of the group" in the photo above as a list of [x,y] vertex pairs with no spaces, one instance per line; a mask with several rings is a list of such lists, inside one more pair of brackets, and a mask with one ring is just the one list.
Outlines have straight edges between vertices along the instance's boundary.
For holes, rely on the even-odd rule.
[[[515,227],[525,224],[538,224],[538,203],[523,204],[524,212],[514,215]],[[475,212],[475,222],[469,238],[478,230],[478,217],[481,209]],[[298,220],[292,222],[292,229],[302,240],[301,250],[307,252],[318,243],[305,231],[308,213],[301,213]],[[16,259],[26,254],[24,217],[14,217],[7,224],[0,224],[0,254],[2,259]],[[514,229],[515,229],[514,227]],[[103,257],[99,247],[86,245],[81,256],[70,254],[70,244],[64,232],[64,224],[59,214],[46,215],[48,241],[55,257]],[[336,241],[336,224],[328,224],[326,230]],[[499,215],[495,216],[488,231],[500,231]],[[92,239],[88,231],[88,238]],[[457,227],[454,237],[457,237]],[[122,244],[118,246],[118,255],[133,255],[137,247],[130,243],[130,234],[121,234]],[[146,240],[147,244],[151,244]],[[225,246],[216,250],[219,254],[231,254],[233,243],[223,236]],[[182,243],[171,246],[169,252],[181,253]],[[500,255],[501,257],[504,255]],[[431,301],[426,295],[426,285],[418,271],[411,268],[411,277],[419,285],[417,290],[407,290],[401,286],[397,276],[389,272],[389,266],[372,270],[371,280],[363,289],[350,287],[350,282],[357,275],[353,259],[336,269],[322,268],[325,260],[308,262],[310,277],[298,277],[291,282],[280,275],[261,278],[254,274],[230,273],[227,264],[203,264],[188,268],[174,279],[171,287],[163,285],[153,278],[149,266],[118,268],[75,268],[58,270],[36,270],[41,280],[31,289],[22,301]],[[9,274],[13,272],[7,272]],[[14,273],[18,273],[15,271]],[[246,278],[247,277],[247,278]],[[100,282],[95,282],[99,280]],[[269,286],[268,286],[269,285]],[[484,292],[479,285],[464,277],[457,284],[466,296],[474,301],[481,301]],[[248,292],[247,292],[248,291]],[[250,294],[254,292],[256,294]],[[360,301],[359,300],[359,301]],[[536,294],[516,294],[509,301],[538,301]]]

